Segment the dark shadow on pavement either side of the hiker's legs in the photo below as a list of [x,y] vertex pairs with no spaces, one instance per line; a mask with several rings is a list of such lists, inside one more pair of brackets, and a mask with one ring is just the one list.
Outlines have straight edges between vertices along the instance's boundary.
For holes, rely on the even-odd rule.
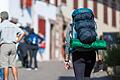
[[[58,80],[75,80],[75,77],[72,76],[61,76],[59,77]],[[92,78],[91,80],[112,80],[108,77],[97,77],[97,78]]]

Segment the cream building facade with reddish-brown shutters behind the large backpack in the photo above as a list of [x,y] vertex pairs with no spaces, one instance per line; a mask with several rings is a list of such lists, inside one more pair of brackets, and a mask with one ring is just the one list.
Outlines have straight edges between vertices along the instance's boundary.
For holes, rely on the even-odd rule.
[[[96,30],[98,33],[98,37],[100,37],[104,33],[120,32],[119,4],[119,0],[61,0],[61,2],[58,4],[58,7],[61,7],[62,15],[64,16],[64,20],[66,21],[67,25],[69,25],[72,22],[71,14],[74,9],[92,9],[97,24]],[[63,16],[61,16],[61,24],[64,24]],[[63,26],[61,25],[61,27]]]

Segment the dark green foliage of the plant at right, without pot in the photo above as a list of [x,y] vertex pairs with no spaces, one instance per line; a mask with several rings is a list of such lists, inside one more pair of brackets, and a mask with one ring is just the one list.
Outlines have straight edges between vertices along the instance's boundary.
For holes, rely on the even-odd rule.
[[105,56],[105,63],[108,66],[120,65],[120,45],[107,50],[107,55]]

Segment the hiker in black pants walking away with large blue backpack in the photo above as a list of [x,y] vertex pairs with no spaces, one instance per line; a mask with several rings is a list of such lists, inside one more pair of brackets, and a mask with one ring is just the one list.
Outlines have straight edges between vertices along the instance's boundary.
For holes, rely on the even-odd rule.
[[[94,32],[95,22],[93,12],[88,8],[75,9],[72,13],[72,19],[73,23],[69,26],[66,33],[65,68],[68,70],[71,68],[71,55],[76,80],[90,80],[90,75],[96,61],[96,51],[86,48],[84,45],[92,44],[96,40],[97,35]],[[78,45],[80,44],[77,44],[77,41],[84,45],[79,47]],[[77,45],[71,47],[72,42]]]

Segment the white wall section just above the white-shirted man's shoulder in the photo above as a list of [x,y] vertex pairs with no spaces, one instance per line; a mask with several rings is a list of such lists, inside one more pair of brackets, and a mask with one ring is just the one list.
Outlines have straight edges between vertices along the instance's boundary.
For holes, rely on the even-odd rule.
[[26,26],[26,23],[32,23],[27,10],[20,8],[20,0],[9,0],[10,17],[17,18],[19,23]]

